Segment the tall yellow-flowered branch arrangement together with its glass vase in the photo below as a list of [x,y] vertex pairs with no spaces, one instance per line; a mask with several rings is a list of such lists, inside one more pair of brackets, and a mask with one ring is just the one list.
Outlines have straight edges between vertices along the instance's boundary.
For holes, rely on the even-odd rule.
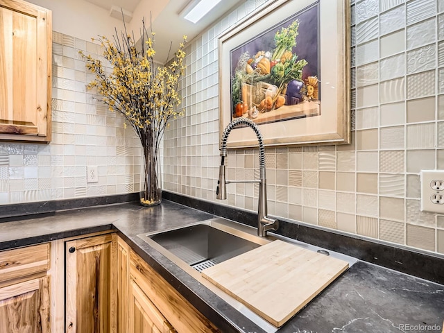
[[[165,128],[171,120],[182,116],[178,94],[180,76],[185,70],[185,42],[183,37],[173,58],[167,65],[155,62],[155,32],[148,32],[144,20],[138,44],[134,35],[99,37],[103,58],[94,59],[80,51],[86,67],[95,74],[87,87],[96,89],[98,100],[109,110],[123,115],[139,137],[142,145],[142,175],[140,203],[158,205],[162,200],[160,144]],[[99,97],[101,95],[101,97]]]

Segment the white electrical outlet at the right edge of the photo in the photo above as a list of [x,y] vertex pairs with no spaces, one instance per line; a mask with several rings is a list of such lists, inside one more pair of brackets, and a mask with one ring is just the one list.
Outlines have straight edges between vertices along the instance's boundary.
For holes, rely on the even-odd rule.
[[444,171],[422,170],[421,210],[444,214]]

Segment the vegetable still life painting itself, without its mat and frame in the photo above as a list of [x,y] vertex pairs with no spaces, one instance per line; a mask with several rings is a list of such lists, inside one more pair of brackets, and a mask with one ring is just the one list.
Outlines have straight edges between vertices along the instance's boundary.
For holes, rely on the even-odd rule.
[[232,117],[267,123],[321,113],[316,6],[231,51]]

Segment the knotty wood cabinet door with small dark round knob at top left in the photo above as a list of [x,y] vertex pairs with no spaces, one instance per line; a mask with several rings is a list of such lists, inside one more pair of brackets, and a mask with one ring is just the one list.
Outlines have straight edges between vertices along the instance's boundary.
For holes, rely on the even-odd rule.
[[116,332],[115,234],[67,241],[66,332]]

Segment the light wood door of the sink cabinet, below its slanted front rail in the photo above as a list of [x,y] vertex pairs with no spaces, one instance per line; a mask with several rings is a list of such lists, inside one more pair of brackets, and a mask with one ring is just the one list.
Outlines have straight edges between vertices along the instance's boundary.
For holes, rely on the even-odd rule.
[[134,280],[130,281],[130,332],[176,332],[160,311],[146,297]]

